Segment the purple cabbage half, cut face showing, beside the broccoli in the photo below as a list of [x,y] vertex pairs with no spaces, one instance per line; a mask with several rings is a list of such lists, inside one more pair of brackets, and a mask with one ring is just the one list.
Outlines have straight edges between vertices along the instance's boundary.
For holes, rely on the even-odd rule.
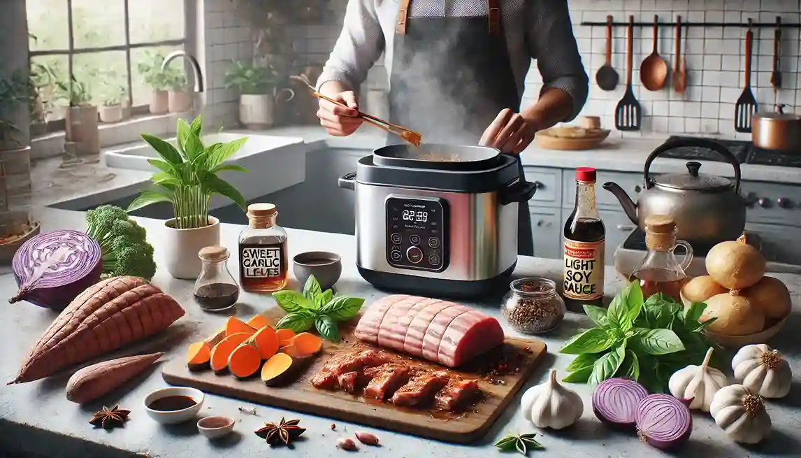
[[61,311],[100,279],[100,245],[80,231],[45,232],[22,243],[11,263],[19,291],[9,303],[26,300]]

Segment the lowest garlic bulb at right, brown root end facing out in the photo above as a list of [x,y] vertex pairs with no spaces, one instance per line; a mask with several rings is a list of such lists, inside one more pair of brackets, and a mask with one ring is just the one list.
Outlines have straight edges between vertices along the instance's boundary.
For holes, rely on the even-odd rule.
[[740,444],[759,444],[771,433],[771,416],[762,398],[743,385],[720,388],[709,412],[731,440]]

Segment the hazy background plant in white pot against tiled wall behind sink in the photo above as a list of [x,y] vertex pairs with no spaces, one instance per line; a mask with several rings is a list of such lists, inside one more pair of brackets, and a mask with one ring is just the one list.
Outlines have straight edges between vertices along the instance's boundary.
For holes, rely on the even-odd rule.
[[248,62],[233,62],[225,74],[225,86],[239,90],[239,123],[251,130],[276,123],[279,94],[287,94],[284,102],[295,97],[292,89],[278,90],[278,73],[272,66],[255,66]]

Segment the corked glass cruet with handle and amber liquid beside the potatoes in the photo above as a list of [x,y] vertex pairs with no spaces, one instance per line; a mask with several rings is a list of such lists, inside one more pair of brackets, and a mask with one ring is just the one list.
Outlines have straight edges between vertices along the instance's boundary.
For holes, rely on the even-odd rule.
[[[676,240],[676,223],[669,216],[650,215],[645,226],[648,254],[634,269],[631,280],[639,280],[646,298],[661,292],[681,303],[682,287],[689,281],[686,269],[693,260],[693,247],[684,240]],[[684,247],[686,251],[681,262],[674,254],[676,247]]]

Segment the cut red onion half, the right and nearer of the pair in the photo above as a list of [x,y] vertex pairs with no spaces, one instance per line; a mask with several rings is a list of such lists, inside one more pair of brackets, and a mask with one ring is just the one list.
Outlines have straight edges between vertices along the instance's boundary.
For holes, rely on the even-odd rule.
[[635,420],[640,440],[663,450],[681,446],[693,430],[690,409],[673,396],[646,396],[637,407]]

